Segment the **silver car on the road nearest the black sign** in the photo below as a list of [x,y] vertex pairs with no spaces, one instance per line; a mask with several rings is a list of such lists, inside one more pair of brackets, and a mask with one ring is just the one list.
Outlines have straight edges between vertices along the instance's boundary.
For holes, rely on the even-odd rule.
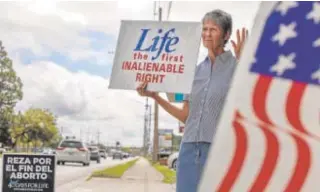
[[62,165],[65,162],[90,165],[90,152],[85,143],[80,140],[62,140],[56,149],[56,158],[57,163]]

